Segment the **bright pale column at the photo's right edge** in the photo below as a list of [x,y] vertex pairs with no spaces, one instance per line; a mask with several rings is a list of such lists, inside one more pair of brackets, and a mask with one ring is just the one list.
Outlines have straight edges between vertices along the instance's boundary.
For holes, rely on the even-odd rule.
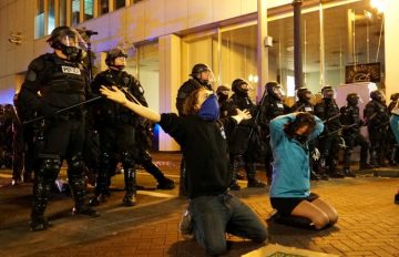
[[392,93],[399,92],[399,1],[386,1],[385,12],[385,65],[386,95],[389,100]]

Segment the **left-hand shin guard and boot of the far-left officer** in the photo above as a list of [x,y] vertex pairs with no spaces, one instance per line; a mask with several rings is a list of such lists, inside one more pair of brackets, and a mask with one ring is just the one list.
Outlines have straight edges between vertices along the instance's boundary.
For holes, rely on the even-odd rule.
[[44,210],[50,198],[51,187],[60,169],[60,160],[43,160],[35,172],[33,185],[33,203],[30,220],[32,232],[45,230],[51,224],[44,218]]

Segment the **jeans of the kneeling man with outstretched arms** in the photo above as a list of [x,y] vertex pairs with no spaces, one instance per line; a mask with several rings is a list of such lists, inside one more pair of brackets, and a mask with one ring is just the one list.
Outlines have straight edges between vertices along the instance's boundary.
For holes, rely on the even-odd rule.
[[267,228],[256,214],[237,197],[225,193],[200,196],[190,202],[195,239],[209,255],[227,250],[225,233],[262,243]]

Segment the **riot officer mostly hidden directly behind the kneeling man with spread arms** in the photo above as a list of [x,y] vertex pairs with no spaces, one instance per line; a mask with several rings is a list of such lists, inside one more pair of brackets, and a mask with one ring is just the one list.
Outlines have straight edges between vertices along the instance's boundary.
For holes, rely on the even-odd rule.
[[[191,79],[185,81],[181,88],[177,91],[177,97],[176,97],[176,109],[178,115],[182,115],[183,112],[183,103],[184,100],[195,90],[205,88],[207,90],[212,90],[211,81],[212,81],[212,70],[208,65],[204,63],[197,63],[193,66],[192,73],[190,74]],[[185,169],[185,162],[184,156],[182,157],[181,163],[181,183],[178,188],[180,195],[186,195],[187,192],[185,188],[186,186],[186,169]]]

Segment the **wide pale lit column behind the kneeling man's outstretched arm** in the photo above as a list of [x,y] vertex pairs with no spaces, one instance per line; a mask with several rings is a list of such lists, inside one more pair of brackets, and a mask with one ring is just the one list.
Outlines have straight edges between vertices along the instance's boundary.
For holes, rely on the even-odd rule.
[[[181,39],[167,34],[158,39],[160,50],[160,112],[177,113],[176,95],[181,81]],[[178,144],[165,132],[160,130],[160,151],[178,151]]]

